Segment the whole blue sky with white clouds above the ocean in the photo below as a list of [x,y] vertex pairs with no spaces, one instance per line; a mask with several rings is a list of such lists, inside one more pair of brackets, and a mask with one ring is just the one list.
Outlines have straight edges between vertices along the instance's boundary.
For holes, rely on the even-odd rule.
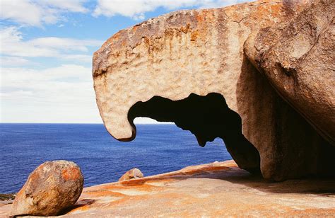
[[243,1],[0,0],[0,122],[102,123],[91,67],[105,40],[171,11]]

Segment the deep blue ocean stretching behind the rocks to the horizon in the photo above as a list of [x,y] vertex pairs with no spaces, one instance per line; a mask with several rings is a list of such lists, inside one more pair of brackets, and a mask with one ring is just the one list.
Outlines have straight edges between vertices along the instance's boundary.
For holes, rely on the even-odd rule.
[[85,186],[111,183],[131,168],[144,176],[232,159],[222,139],[199,147],[175,125],[136,125],[132,142],[118,142],[100,124],[0,124],[0,193],[15,193],[45,161],[81,167]]

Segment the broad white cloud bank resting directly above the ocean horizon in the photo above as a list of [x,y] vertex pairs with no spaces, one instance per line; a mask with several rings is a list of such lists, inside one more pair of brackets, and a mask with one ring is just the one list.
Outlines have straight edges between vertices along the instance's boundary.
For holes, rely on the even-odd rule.
[[1,68],[1,122],[101,122],[91,69]]

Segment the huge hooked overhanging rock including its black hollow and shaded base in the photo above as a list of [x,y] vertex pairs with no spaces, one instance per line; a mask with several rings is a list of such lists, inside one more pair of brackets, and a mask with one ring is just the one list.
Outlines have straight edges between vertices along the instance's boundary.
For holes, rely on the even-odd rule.
[[[249,35],[290,21],[307,6],[257,1],[177,11],[119,31],[93,57],[108,132],[129,141],[136,136],[134,118],[153,117],[191,130],[200,145],[223,138],[241,168],[270,180],[329,173],[332,148],[243,51]],[[221,101],[208,101],[208,94]]]

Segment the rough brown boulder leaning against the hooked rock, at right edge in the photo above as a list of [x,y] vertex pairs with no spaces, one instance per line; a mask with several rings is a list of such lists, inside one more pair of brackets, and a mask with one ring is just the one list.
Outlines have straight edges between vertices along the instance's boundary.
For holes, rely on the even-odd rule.
[[335,1],[249,37],[245,52],[276,90],[335,146]]

